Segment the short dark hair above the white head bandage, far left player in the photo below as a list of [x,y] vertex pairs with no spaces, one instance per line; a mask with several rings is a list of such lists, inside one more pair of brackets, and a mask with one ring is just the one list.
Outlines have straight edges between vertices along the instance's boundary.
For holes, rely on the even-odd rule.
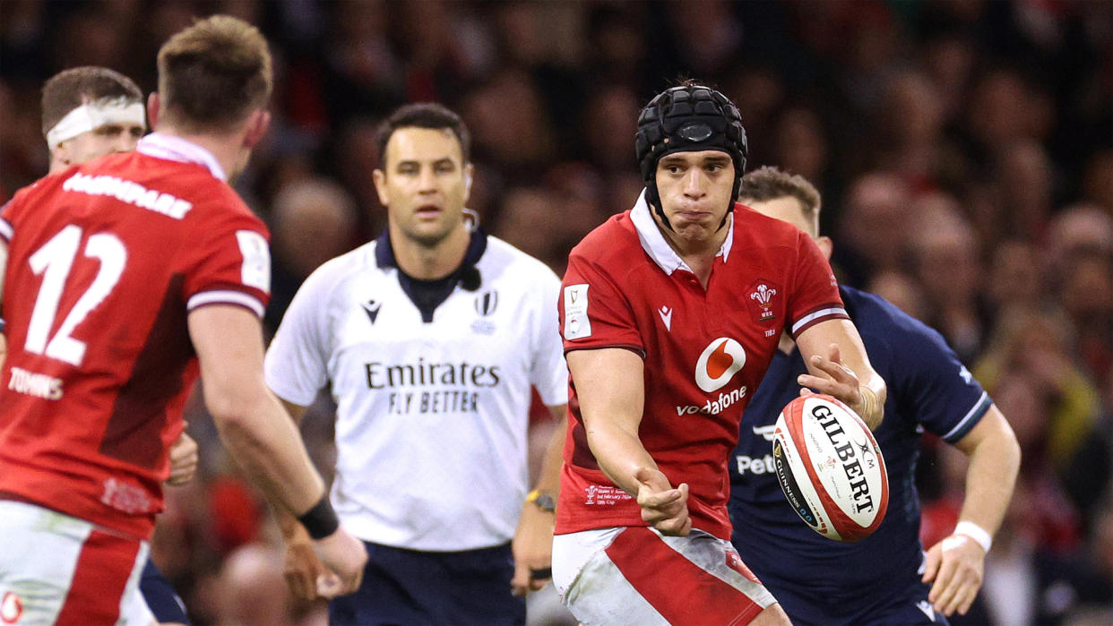
[[86,66],[61,71],[42,86],[42,135],[87,102],[120,99],[142,103],[142,91],[116,70]]

